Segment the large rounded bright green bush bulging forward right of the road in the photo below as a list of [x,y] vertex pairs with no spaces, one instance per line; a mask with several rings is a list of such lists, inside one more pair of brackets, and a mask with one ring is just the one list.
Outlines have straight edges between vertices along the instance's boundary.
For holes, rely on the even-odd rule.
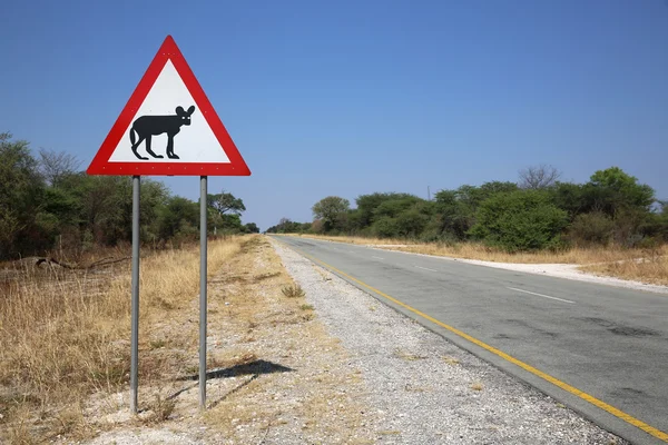
[[568,222],[566,211],[539,190],[498,194],[484,200],[470,235],[509,253],[558,248]]

